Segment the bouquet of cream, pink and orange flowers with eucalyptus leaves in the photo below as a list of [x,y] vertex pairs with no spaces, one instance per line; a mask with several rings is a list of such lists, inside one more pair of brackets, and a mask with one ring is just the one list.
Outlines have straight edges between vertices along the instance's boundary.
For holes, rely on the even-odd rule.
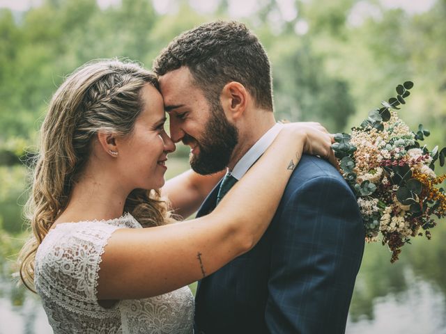
[[410,131],[397,114],[411,88],[411,81],[398,85],[397,97],[381,102],[351,134],[336,134],[332,145],[341,173],[355,191],[366,241],[387,244],[391,262],[411,237],[430,239],[434,217],[446,216],[445,191],[438,188],[446,175],[434,172],[437,162],[445,164],[446,148],[430,151],[420,145],[429,131],[422,125]]

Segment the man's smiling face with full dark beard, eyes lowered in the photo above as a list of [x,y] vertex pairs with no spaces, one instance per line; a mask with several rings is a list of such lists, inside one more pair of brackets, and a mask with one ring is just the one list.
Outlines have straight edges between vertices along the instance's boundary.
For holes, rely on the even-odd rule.
[[192,169],[201,175],[224,169],[238,143],[238,131],[221,104],[209,104],[187,67],[161,76],[160,90],[170,116],[171,138],[190,146]]

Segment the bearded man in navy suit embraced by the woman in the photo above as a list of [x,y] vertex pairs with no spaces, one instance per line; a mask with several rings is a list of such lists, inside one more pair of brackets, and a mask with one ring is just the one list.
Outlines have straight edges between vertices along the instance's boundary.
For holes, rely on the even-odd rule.
[[[270,63],[238,22],[186,31],[154,63],[170,133],[190,145],[190,164],[229,172],[197,216],[211,212],[280,130]],[[364,230],[355,196],[323,159],[304,155],[259,244],[203,278],[196,333],[344,333]]]

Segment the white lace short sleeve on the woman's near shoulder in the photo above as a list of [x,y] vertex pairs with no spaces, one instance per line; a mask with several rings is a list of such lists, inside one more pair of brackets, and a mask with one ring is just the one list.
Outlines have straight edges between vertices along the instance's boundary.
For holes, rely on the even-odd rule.
[[79,315],[111,317],[96,299],[101,255],[118,226],[102,222],[65,223],[49,232],[36,254],[34,283],[44,301]]

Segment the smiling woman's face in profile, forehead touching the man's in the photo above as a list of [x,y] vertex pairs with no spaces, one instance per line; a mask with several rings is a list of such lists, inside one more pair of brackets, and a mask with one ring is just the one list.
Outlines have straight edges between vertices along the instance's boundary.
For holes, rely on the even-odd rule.
[[133,189],[158,189],[164,185],[167,153],[175,144],[164,131],[166,114],[161,94],[147,84],[141,88],[143,111],[134,123],[133,132],[119,145],[121,176]]

